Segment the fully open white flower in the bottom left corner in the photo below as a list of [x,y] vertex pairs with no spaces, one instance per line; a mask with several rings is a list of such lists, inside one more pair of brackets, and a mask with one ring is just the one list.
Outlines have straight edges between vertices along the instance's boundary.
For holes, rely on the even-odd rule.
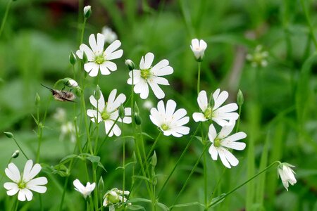
[[43,185],[47,184],[46,177],[33,179],[39,174],[41,169],[42,167],[38,163],[33,166],[33,161],[27,160],[24,171],[21,174],[13,162],[9,163],[5,170],[6,176],[14,182],[6,182],[4,184],[4,188],[8,190],[6,194],[13,196],[18,193],[18,200],[25,201],[26,199],[30,201],[33,198],[32,191],[45,193],[47,188]]

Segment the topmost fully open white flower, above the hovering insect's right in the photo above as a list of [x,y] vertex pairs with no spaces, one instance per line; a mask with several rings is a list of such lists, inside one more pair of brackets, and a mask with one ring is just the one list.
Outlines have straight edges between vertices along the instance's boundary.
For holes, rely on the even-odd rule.
[[123,55],[123,50],[116,51],[120,46],[119,40],[113,41],[106,50],[104,50],[104,34],[97,34],[97,40],[94,34],[89,36],[89,45],[91,49],[85,44],[80,45],[80,50],[76,51],[79,58],[82,59],[83,52],[86,53],[88,63],[85,63],[84,69],[89,72],[91,77],[96,77],[100,70],[101,75],[109,75],[110,71],[116,71],[117,65],[111,60],[120,58]]

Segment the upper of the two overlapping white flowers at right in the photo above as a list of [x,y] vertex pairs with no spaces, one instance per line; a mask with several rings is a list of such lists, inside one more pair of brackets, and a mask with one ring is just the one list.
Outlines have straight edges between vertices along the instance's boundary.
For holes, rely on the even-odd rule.
[[194,113],[192,115],[194,121],[204,122],[207,120],[213,120],[221,127],[223,127],[225,124],[229,123],[226,120],[237,120],[239,115],[235,112],[232,112],[237,110],[237,103],[230,103],[228,105],[220,107],[221,105],[223,105],[225,100],[227,100],[228,96],[229,94],[227,91],[221,91],[220,93],[220,89],[217,89],[213,93],[214,106],[211,107],[207,99],[206,91],[200,91],[198,94],[197,102],[202,113]]

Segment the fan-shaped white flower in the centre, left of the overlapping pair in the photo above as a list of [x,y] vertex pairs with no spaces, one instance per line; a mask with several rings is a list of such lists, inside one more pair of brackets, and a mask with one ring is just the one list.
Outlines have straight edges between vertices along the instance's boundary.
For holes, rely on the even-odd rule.
[[161,129],[165,136],[181,137],[189,134],[189,127],[183,126],[189,122],[189,117],[185,117],[186,110],[180,108],[175,111],[176,103],[173,100],[168,100],[166,108],[163,101],[159,101],[157,109],[151,109],[151,121]]

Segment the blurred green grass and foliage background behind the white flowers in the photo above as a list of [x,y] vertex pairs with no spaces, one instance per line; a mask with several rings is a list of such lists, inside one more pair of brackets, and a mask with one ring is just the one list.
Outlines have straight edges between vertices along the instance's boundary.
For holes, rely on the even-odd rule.
[[[0,20],[7,2],[0,1]],[[48,109],[40,162],[57,165],[61,158],[73,151],[74,145],[69,137],[63,141],[59,139],[60,125],[53,118],[56,108],[64,108],[68,120],[73,121],[73,104],[50,100],[51,93],[40,83],[53,87],[58,79],[73,77],[68,56],[70,51],[79,48],[78,18],[82,22],[79,4],[78,0],[17,0],[11,5],[0,37],[1,174],[17,149],[2,132],[13,132],[26,153],[35,158],[37,135],[33,130],[37,126],[31,114],[36,113],[36,93],[41,97],[40,115],[43,116],[44,110]],[[247,133],[244,140],[247,148],[234,152],[240,165],[231,170],[225,170],[219,160],[215,162],[208,158],[210,194],[218,196],[230,191],[275,160],[296,166],[297,184],[288,192],[273,168],[265,177],[258,177],[226,198],[214,210],[317,210],[317,55],[314,53],[316,38],[311,35],[317,28],[316,1],[100,0],[83,4],[92,6],[85,44],[88,44],[89,34],[101,32],[105,25],[111,27],[122,42],[124,53],[123,58],[116,60],[118,70],[100,79],[99,86],[105,97],[115,88],[130,96],[124,60],[130,58],[138,66],[140,58],[152,52],[154,63],[166,58],[174,68],[173,75],[166,77],[170,87],[162,87],[165,100],[173,98],[178,102],[178,108],[185,108],[191,117],[199,109],[197,62],[189,48],[194,38],[204,39],[208,44],[202,63],[201,89],[207,93],[217,88],[227,90],[230,102],[236,101],[237,91],[242,90],[244,105],[240,130]],[[268,51],[268,65],[254,68],[245,57],[259,44]],[[94,80],[87,77],[89,83]],[[93,90],[94,86],[91,86],[85,92],[88,107],[88,97]],[[156,105],[153,93],[149,98]],[[144,101],[138,99],[138,103],[142,107]],[[142,112],[142,118],[144,132],[156,137],[159,131],[149,120],[149,110]],[[197,124],[191,119],[189,127],[193,133]],[[125,134],[131,133],[129,126],[124,128]],[[100,136],[104,136],[104,132]],[[160,139],[156,148],[156,173],[162,175],[158,188],[166,178],[163,175],[173,168],[188,140],[189,136],[181,139],[164,136]],[[152,142],[148,138],[147,147]],[[121,148],[122,140],[108,139],[99,154],[108,171],[99,172],[106,190],[120,188],[122,172],[116,167],[121,165]],[[201,143],[193,141],[160,198],[161,203],[173,203],[201,150]],[[130,140],[129,160],[132,160],[132,151],[133,142]],[[14,162],[23,167],[25,158],[20,156]],[[131,172],[131,168],[128,171]],[[57,210],[65,178],[58,174],[46,177],[49,177],[49,189],[42,195],[45,210]],[[2,185],[4,178],[0,187],[0,207],[11,202]],[[70,181],[76,178],[84,180],[81,162],[77,162]],[[215,190],[218,181],[220,185]],[[135,194],[147,197],[144,187]],[[193,201],[204,201],[202,163],[179,203]],[[85,202],[70,182],[65,209],[80,210],[80,205],[85,207]],[[30,203],[21,203],[21,207],[23,210],[38,209],[38,197]],[[200,210],[201,207],[188,209]]]

